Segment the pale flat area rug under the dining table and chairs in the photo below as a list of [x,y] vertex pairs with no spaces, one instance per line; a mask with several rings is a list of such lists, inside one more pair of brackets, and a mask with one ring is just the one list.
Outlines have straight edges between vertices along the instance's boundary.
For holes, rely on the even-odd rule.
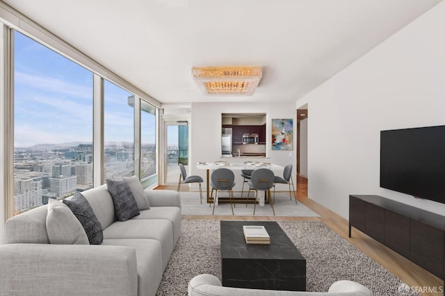
[[[213,210],[213,204],[209,206],[206,202],[206,193],[202,192],[202,204],[200,204],[200,192],[181,192],[181,213],[182,215],[211,215]],[[223,192],[220,197],[227,196],[226,192]],[[253,194],[251,196],[253,198]],[[276,192],[275,193],[275,216],[277,217],[320,217],[317,213],[310,208],[298,202],[296,204],[295,199],[289,198],[289,192]],[[232,208],[230,204],[220,203],[215,206],[214,215],[232,215]],[[236,216],[252,216],[253,204],[236,204],[234,207],[234,215]],[[272,208],[269,204],[265,206],[258,206],[255,209],[255,216],[273,216]]]

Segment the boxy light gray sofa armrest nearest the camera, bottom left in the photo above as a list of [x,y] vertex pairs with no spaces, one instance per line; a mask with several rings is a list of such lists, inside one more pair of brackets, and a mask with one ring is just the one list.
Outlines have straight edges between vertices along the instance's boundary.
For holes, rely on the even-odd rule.
[[0,291],[6,295],[137,295],[136,251],[102,245],[1,245]]

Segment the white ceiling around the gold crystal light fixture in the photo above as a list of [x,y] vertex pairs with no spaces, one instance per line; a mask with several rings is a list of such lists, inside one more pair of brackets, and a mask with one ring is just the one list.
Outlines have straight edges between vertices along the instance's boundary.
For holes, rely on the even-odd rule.
[[[6,0],[161,103],[296,101],[442,0]],[[262,66],[252,97],[192,67]]]

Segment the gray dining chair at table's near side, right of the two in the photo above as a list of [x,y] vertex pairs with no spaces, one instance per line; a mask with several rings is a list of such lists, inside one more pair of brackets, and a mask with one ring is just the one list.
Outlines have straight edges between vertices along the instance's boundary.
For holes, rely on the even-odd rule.
[[249,195],[250,190],[255,190],[255,201],[254,201],[254,207],[253,207],[253,214],[255,215],[255,209],[257,208],[257,197],[258,197],[258,191],[264,191],[265,199],[268,197],[270,206],[272,207],[273,215],[275,215],[275,208],[273,208],[273,199],[270,195],[270,188],[273,187],[273,179],[274,174],[272,170],[269,170],[267,168],[261,168],[254,170],[252,172],[252,175],[250,175],[250,181],[248,181],[249,185],[249,192],[248,192],[248,199],[245,202],[245,206],[248,206],[249,202]]

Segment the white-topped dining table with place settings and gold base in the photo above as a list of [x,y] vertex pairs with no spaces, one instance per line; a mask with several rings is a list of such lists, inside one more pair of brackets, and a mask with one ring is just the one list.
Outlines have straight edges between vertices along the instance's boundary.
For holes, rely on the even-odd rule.
[[[210,196],[210,186],[209,186],[209,180],[210,180],[210,171],[211,170],[217,170],[220,167],[225,167],[229,170],[234,171],[241,171],[241,170],[255,170],[259,169],[261,167],[268,168],[270,170],[284,170],[284,167],[282,165],[276,165],[275,163],[263,163],[263,162],[257,162],[257,161],[245,161],[243,163],[229,163],[227,161],[216,161],[214,163],[197,163],[196,168],[198,170],[206,170],[206,190],[207,190],[207,203],[212,203],[213,198]],[[264,205],[264,199],[262,199],[262,202],[260,202],[260,205]]]

